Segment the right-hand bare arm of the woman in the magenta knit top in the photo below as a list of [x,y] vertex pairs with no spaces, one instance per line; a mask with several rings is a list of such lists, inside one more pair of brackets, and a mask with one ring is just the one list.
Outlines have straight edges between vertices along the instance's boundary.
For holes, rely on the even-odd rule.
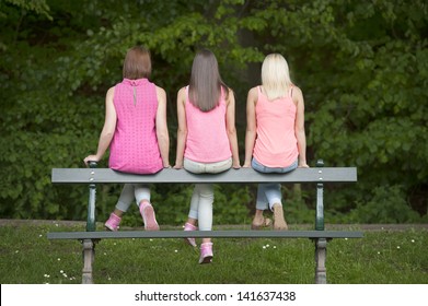
[[158,110],[157,110],[157,138],[159,151],[161,152],[162,164],[164,168],[170,165],[170,136],[166,123],[166,93],[163,89],[157,86]]

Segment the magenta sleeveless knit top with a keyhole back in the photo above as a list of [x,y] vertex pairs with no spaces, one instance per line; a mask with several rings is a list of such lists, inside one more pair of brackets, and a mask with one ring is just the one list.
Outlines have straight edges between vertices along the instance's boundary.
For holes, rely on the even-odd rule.
[[136,174],[162,169],[155,133],[155,85],[147,79],[124,79],[115,86],[113,103],[117,122],[109,148],[109,167]]

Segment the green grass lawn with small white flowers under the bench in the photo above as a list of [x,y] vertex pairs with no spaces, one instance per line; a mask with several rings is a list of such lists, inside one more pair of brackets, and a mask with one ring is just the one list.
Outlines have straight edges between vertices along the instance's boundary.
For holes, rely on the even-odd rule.
[[[101,229],[101,228],[100,228]],[[81,244],[46,233],[81,225],[0,226],[0,283],[81,283]],[[311,284],[309,239],[215,239],[211,264],[182,239],[105,239],[96,245],[94,281],[101,284]],[[327,245],[327,281],[335,284],[427,284],[428,231],[369,231],[362,239]]]

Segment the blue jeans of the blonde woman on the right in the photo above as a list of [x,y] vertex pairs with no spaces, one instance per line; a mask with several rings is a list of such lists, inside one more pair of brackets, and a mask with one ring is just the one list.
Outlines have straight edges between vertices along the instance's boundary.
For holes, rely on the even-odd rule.
[[[256,158],[253,157],[251,162],[251,166],[256,172],[261,173],[288,173],[292,172],[298,167],[298,161],[296,160],[290,166],[285,168],[273,168],[266,167],[262,165]],[[257,210],[274,210],[273,207],[275,203],[282,205],[282,193],[281,193],[281,185],[276,183],[267,183],[267,184],[258,184],[257,187],[257,200],[256,200],[256,209]]]

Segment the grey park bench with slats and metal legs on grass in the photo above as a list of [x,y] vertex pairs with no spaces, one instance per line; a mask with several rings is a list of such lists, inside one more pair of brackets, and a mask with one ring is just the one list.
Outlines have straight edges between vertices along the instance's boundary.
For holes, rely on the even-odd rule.
[[[319,161],[316,167],[297,168],[287,174],[262,174],[252,168],[230,169],[220,174],[192,174],[185,169],[165,168],[153,175],[136,175],[115,172],[109,168],[96,168],[91,163],[89,168],[54,168],[51,173],[54,184],[84,184],[89,185],[88,221],[83,232],[53,232],[47,234],[48,239],[77,239],[83,245],[82,283],[93,283],[93,262],[95,243],[107,238],[310,238],[315,245],[315,283],[326,283],[326,247],[327,240],[333,238],[361,238],[362,232],[325,231],[324,228],[324,184],[355,183],[357,168],[355,167],[323,167]],[[315,184],[316,209],[315,228],[313,231],[95,231],[95,190],[97,184]],[[190,200],[190,199],[189,199]]]

